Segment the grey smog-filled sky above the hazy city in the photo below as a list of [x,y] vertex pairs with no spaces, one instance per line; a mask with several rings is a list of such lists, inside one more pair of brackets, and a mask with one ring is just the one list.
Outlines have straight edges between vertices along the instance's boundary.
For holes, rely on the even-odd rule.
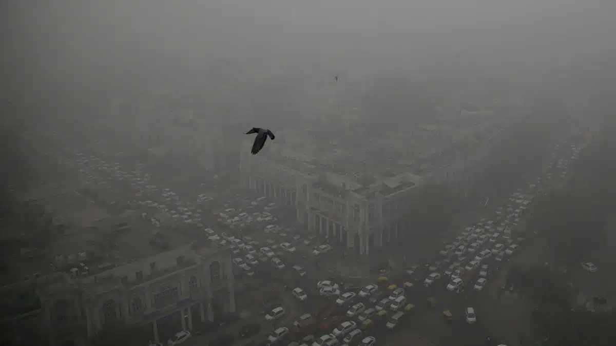
[[584,74],[616,46],[610,0],[7,0],[0,12],[13,89],[198,78],[219,58]]

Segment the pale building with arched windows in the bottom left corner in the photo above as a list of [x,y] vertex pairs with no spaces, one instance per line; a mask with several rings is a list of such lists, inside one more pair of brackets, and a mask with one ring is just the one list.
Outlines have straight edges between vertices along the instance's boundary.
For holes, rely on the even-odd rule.
[[[2,294],[23,288],[33,288],[39,304],[5,317],[3,324],[21,326],[21,321],[30,321],[46,334],[42,344],[50,346],[85,345],[107,333],[144,327],[150,340],[164,343],[163,337],[171,335],[160,335],[160,321],[167,326],[171,321],[177,332],[192,329],[195,318],[213,321],[217,315],[235,312],[230,252],[195,245],[94,275],[31,278],[2,288]],[[14,329],[14,334],[18,338],[23,333]]]

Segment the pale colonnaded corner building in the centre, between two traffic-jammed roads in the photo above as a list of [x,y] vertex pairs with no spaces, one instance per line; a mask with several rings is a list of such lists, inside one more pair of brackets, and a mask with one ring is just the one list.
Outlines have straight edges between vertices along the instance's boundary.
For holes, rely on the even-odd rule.
[[413,226],[405,214],[426,186],[450,185],[460,196],[472,193],[472,182],[485,170],[490,152],[490,141],[476,143],[472,150],[453,147],[428,158],[421,175],[410,167],[397,174],[369,173],[374,167],[345,174],[268,145],[259,155],[241,153],[241,185],[295,209],[309,231],[359,254],[410,234]]

